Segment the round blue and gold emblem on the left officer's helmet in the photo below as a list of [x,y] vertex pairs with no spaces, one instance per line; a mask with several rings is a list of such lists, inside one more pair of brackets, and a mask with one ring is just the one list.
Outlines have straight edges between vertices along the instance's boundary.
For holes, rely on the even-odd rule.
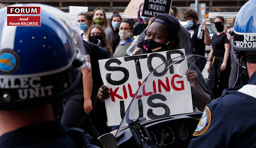
[[0,73],[12,74],[19,67],[20,59],[18,55],[10,49],[0,51]]

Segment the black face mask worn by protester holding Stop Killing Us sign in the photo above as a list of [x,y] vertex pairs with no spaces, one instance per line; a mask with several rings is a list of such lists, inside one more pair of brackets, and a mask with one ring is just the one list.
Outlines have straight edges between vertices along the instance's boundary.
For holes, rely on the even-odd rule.
[[144,40],[143,48],[144,48],[145,53],[152,53],[152,52],[158,52],[158,51],[167,51],[168,50],[168,46],[167,46],[168,43],[161,44],[161,43],[157,43],[156,41],[154,41],[152,39],[147,39],[147,40]]

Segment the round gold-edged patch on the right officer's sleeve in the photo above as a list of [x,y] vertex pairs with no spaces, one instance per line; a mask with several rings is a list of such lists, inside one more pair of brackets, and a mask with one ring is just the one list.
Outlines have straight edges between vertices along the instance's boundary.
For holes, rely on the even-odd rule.
[[206,106],[204,108],[204,113],[196,127],[196,130],[193,136],[200,136],[209,128],[211,123],[211,112],[210,109]]

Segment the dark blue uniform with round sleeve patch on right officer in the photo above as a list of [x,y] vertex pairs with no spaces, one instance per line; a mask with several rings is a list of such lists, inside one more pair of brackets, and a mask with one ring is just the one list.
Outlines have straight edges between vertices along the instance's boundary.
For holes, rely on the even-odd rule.
[[[248,84],[256,86],[256,72]],[[256,147],[256,98],[237,91],[241,87],[225,89],[205,107],[189,148]]]

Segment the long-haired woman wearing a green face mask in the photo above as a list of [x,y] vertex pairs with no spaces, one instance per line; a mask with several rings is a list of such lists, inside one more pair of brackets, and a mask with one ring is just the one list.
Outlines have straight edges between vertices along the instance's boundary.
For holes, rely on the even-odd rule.
[[108,43],[110,47],[112,47],[112,29],[108,26],[108,20],[106,17],[105,10],[102,8],[96,8],[93,11],[93,20],[93,25],[100,25],[104,29],[108,38]]

